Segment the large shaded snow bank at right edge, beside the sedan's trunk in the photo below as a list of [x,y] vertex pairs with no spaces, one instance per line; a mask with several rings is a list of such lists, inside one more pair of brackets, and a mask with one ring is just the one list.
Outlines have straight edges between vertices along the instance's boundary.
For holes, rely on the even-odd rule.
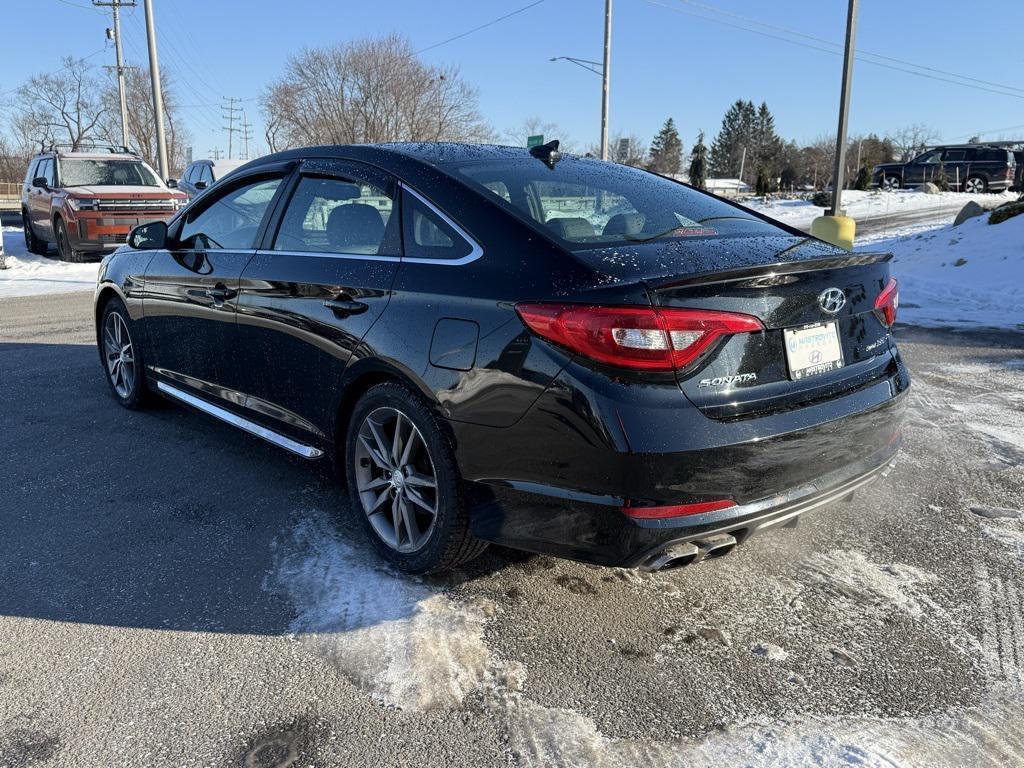
[[1024,216],[1001,224],[976,216],[860,241],[857,250],[892,252],[903,323],[1024,330]]

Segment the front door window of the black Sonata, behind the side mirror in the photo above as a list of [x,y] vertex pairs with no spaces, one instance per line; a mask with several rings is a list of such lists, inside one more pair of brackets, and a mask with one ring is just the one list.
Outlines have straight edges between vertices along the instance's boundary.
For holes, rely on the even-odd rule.
[[210,205],[189,212],[178,233],[181,248],[208,250],[253,248],[281,177],[236,186]]

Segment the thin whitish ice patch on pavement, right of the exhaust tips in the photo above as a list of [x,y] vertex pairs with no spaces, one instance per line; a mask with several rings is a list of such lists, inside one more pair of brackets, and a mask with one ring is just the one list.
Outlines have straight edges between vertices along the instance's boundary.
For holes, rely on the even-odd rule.
[[934,573],[912,565],[879,565],[860,552],[844,550],[810,555],[801,562],[801,568],[810,584],[837,598],[840,604],[845,602],[854,612],[899,610],[921,616],[922,605],[931,604],[921,587],[937,581]]

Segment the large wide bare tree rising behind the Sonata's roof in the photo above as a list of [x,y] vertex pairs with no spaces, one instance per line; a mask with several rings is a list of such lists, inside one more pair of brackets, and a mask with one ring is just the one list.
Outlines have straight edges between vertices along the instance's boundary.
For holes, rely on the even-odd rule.
[[423,63],[397,35],[289,59],[262,96],[267,142],[478,141],[490,136],[476,91],[450,67]]

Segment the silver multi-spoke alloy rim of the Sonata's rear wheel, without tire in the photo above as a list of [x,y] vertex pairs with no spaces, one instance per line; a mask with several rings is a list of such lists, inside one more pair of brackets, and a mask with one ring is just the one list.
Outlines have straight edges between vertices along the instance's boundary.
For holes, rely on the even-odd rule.
[[437,519],[437,479],[423,434],[397,409],[367,415],[355,443],[355,484],[377,536],[396,552],[420,550]]

